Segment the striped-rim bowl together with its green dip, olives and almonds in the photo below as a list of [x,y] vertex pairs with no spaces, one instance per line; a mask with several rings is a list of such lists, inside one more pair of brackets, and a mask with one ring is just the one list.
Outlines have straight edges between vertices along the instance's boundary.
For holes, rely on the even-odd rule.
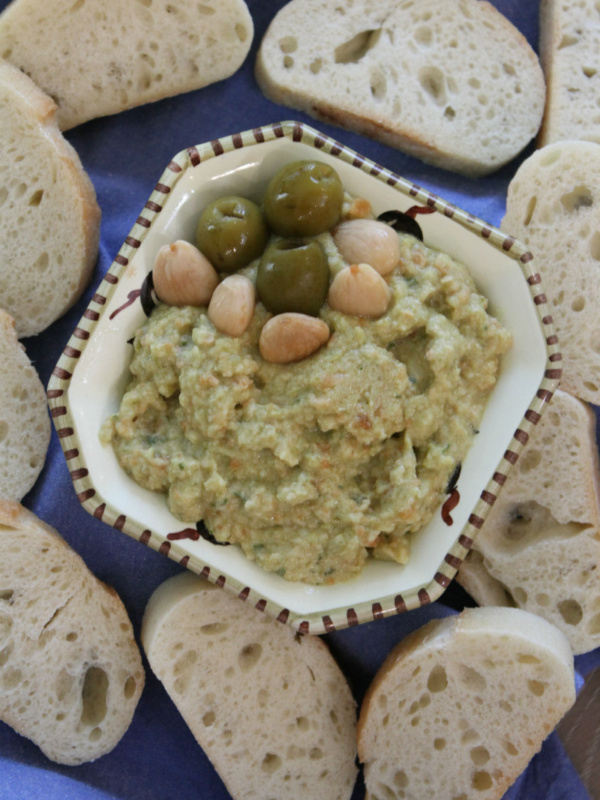
[[544,305],[520,243],[279,123],[174,157],[50,404],[90,513],[318,633],[447,587],[556,386]]

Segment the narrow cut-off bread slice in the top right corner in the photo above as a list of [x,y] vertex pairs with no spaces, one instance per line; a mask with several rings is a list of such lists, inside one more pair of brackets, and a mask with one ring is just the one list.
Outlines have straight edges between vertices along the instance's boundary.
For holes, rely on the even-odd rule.
[[541,0],[540,60],[548,86],[538,137],[600,144],[600,13],[595,0]]

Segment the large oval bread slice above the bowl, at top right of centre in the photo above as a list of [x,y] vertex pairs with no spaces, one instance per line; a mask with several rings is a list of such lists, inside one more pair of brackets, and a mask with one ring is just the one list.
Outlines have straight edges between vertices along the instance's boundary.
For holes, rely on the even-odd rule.
[[292,0],[256,78],[276,103],[467,175],[516,156],[545,99],[527,40],[483,0]]

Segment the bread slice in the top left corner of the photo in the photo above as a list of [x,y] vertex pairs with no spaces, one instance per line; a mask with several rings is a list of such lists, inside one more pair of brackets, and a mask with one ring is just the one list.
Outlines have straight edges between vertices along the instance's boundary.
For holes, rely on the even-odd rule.
[[253,34],[244,0],[13,0],[0,56],[54,98],[67,130],[229,77]]

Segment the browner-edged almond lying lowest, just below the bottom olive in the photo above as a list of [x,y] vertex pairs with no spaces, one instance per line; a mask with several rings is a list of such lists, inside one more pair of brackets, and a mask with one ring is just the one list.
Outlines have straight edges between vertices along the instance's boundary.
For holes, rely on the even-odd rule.
[[316,353],[329,339],[329,326],[322,319],[286,311],[266,322],[258,348],[265,361],[290,364]]

